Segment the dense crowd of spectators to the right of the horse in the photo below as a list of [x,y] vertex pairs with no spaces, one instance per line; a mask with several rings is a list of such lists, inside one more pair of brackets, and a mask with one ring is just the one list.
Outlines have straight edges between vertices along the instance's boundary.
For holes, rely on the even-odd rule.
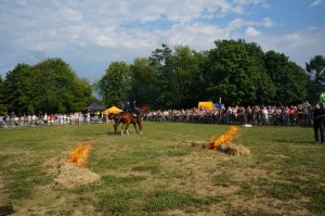
[[182,122],[211,123],[235,125],[312,125],[312,106],[303,103],[294,105],[268,106],[221,106],[209,109],[169,110],[150,112],[146,120],[151,122]]

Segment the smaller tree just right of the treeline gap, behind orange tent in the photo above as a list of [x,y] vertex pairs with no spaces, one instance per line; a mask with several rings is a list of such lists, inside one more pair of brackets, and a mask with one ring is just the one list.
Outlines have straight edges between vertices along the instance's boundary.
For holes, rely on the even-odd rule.
[[131,89],[130,66],[125,62],[110,63],[104,76],[98,81],[96,89],[106,106],[121,105],[128,100]]

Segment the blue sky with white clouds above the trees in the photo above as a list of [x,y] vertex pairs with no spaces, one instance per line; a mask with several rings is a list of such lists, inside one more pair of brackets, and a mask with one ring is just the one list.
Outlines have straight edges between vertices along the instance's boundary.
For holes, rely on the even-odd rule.
[[245,39],[304,68],[325,56],[325,0],[0,0],[0,73],[60,58],[80,78],[100,79],[161,43],[196,51]]

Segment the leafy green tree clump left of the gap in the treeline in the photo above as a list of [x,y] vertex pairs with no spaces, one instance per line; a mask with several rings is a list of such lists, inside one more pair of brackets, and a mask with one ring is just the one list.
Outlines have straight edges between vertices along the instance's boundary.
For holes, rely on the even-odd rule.
[[89,81],[79,79],[60,59],[18,64],[4,80],[4,103],[18,114],[81,111],[93,100],[91,93]]

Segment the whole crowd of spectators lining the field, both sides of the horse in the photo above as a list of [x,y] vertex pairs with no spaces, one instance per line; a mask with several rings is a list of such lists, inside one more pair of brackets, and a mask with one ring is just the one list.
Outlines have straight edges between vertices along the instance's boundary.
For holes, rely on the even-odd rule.
[[[209,123],[235,125],[299,125],[311,126],[313,123],[313,109],[309,103],[294,105],[268,106],[220,106],[212,111],[209,109],[152,111],[142,116],[148,122],[181,122],[181,123]],[[4,113],[0,115],[0,127],[44,126],[44,125],[80,125],[92,123],[108,123],[102,113],[72,113],[72,114],[43,114],[22,115]]]

